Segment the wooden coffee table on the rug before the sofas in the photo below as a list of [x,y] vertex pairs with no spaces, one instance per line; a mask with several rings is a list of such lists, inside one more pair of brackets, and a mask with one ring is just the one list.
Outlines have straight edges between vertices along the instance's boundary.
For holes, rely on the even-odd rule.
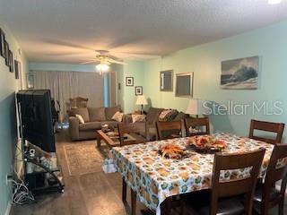
[[[100,147],[100,142],[105,142],[109,148],[121,146],[118,134],[112,135],[113,132],[105,133],[102,130],[97,130],[97,146]],[[125,142],[131,142],[138,139],[138,135],[134,133],[125,133]]]

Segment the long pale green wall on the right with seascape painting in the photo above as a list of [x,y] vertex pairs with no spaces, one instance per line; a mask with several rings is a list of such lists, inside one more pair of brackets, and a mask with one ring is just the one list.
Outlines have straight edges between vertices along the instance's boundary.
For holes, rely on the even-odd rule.
[[[259,56],[258,89],[222,90],[220,88],[221,62],[247,56]],[[239,135],[248,135],[251,118],[287,124],[286,56],[287,22],[280,22],[145,62],[143,65],[144,93],[151,99],[152,107],[178,108],[185,111],[188,99],[176,98],[174,91],[159,90],[160,71],[173,69],[174,73],[194,73],[194,98],[196,99],[212,100],[219,104],[226,103],[228,100],[240,104],[267,101],[271,105],[276,100],[283,102],[281,116],[265,116],[262,113],[252,115],[252,112],[248,112],[245,116],[210,116],[213,131],[230,131]]]

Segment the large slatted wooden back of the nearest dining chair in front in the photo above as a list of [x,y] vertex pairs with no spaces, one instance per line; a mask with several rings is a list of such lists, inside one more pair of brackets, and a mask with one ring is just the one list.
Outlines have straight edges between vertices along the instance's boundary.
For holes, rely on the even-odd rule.
[[[212,192],[210,214],[217,212],[219,198],[245,194],[245,211],[251,214],[252,199],[256,187],[257,176],[264,158],[265,149],[247,153],[216,153],[213,164]],[[248,168],[249,174],[243,178],[221,180],[221,171],[228,169]]]

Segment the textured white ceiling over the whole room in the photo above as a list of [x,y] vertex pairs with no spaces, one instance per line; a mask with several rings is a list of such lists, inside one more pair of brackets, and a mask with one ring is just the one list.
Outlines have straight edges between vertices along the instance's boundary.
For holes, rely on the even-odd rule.
[[41,62],[80,63],[93,49],[151,58],[286,18],[287,0],[0,0],[0,19]]

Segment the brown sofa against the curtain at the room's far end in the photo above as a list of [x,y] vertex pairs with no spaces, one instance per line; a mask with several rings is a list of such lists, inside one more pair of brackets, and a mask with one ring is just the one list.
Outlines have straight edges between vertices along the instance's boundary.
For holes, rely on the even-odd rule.
[[[81,107],[74,108],[69,116],[69,132],[72,141],[95,139],[96,130],[107,124],[110,128],[117,127],[117,121],[112,116],[120,111],[119,107]],[[84,124],[80,124],[75,115],[83,116]]]

